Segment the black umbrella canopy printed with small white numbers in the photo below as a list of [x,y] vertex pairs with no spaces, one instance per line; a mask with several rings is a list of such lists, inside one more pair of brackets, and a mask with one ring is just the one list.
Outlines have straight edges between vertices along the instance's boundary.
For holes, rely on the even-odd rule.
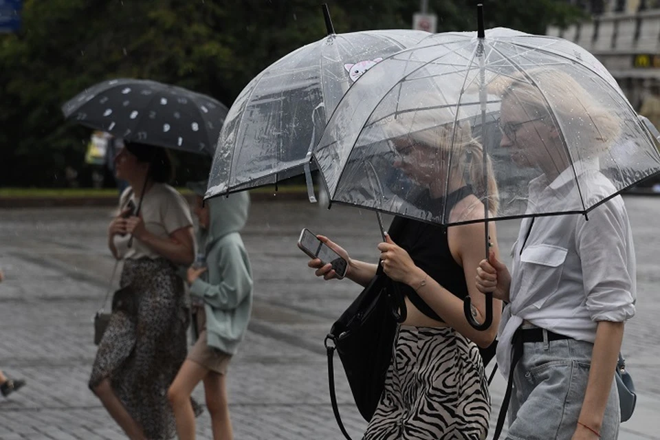
[[118,78],[85,89],[62,111],[68,120],[128,142],[212,156],[228,109],[182,87]]

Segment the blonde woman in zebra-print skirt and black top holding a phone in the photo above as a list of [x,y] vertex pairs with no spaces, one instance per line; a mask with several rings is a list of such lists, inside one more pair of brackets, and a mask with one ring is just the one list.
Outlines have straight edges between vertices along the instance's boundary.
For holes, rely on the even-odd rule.
[[[496,210],[492,172],[487,167],[484,185],[483,149],[469,124],[395,133],[391,144],[394,165],[425,188],[421,197],[434,201],[450,221],[483,219],[485,197]],[[485,251],[483,228],[483,223],[445,228],[395,217],[392,236],[378,245],[384,273],[405,296],[407,317],[365,440],[485,439],[490,397],[478,347],[493,342],[501,305],[496,300],[493,325],[485,331],[474,329],[463,313],[463,298],[470,296],[476,320],[485,316],[484,296],[474,286]],[[492,224],[490,236],[497,254]],[[377,265],[351,259],[325,236],[319,239],[349,262],[346,278],[364,286],[375,276]],[[336,278],[329,264],[314,259],[308,265],[317,276]]]

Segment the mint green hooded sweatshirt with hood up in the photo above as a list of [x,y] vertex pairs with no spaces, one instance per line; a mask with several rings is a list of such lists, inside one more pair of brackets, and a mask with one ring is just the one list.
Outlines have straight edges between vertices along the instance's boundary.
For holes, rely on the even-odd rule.
[[209,347],[236,354],[252,309],[252,271],[239,231],[248,220],[250,196],[238,192],[207,200],[209,228],[197,234],[199,252],[206,250],[207,270],[190,285],[206,312]]

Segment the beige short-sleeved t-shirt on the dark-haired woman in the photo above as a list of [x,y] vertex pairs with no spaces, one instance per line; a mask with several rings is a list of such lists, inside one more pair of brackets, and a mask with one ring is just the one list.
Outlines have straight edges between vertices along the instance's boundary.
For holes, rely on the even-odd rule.
[[[131,188],[126,188],[120,197],[120,209],[124,209],[129,203],[129,193],[133,203],[137,206],[139,200],[135,199],[135,193],[131,191]],[[148,232],[165,239],[177,229],[192,226],[188,202],[177,190],[166,184],[154,183],[149,188],[142,199],[140,215]],[[160,256],[137,239],[133,239],[132,246],[129,248],[129,238],[130,234],[113,237],[113,243],[120,258],[139,259],[146,256],[156,259]]]

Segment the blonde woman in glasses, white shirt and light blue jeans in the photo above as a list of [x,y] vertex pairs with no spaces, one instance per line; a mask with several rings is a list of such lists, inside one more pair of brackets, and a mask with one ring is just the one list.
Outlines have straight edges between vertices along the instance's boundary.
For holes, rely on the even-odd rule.
[[[578,208],[571,203],[579,192],[591,201],[615,194],[598,160],[619,135],[617,120],[567,74],[544,69],[529,78],[507,80],[498,91],[501,146],[516,166],[542,171],[529,182],[527,212]],[[573,124],[575,138],[555,120]],[[507,439],[616,439],[614,372],[624,322],[635,314],[635,251],[623,200],[606,201],[588,219],[524,219],[512,256],[511,272],[496,256],[481,261],[476,281],[509,303],[497,347],[498,366],[516,389]],[[516,365],[512,351],[521,355]]]

